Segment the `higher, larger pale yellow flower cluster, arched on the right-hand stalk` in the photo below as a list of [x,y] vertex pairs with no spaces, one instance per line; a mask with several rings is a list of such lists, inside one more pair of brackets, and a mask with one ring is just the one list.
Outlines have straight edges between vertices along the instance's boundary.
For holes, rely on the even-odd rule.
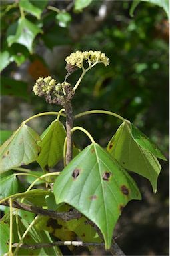
[[76,66],[79,69],[83,66],[83,61],[87,61],[90,65],[93,63],[103,63],[109,65],[109,58],[101,51],[76,51],[65,58],[68,65]]

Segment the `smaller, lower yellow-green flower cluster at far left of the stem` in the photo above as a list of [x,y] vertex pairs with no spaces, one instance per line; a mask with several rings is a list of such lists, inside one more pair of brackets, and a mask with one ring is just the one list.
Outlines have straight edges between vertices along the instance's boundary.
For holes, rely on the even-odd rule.
[[55,85],[57,85],[57,82],[52,77],[40,77],[33,87],[33,92],[35,95],[47,95],[55,88]]

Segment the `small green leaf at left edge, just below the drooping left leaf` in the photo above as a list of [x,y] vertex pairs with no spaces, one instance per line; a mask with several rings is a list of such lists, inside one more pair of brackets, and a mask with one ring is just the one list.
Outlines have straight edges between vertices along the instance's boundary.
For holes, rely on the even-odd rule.
[[1,199],[13,195],[18,191],[18,182],[15,174],[0,179],[0,197]]

